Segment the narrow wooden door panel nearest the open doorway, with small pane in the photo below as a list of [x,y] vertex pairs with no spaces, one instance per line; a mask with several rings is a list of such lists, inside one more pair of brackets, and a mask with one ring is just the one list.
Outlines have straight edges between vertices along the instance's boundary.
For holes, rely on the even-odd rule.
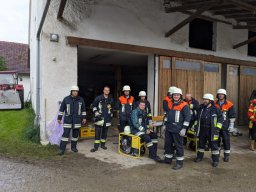
[[167,95],[168,88],[172,85],[171,57],[160,56],[158,76],[158,114],[163,115],[163,99]]

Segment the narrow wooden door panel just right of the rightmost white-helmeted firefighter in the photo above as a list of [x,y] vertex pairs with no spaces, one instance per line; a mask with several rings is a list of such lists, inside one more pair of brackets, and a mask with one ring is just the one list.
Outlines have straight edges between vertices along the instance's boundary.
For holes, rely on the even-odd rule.
[[[238,98],[239,98],[239,66],[236,65],[227,65],[227,94],[228,100],[230,100],[235,107],[237,116],[239,115],[238,111]],[[238,121],[238,118],[237,118]]]

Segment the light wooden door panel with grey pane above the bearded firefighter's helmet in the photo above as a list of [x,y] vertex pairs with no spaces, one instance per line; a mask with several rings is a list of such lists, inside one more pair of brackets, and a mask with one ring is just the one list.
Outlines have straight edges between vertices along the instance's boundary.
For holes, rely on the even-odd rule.
[[204,62],[204,93],[216,95],[221,88],[221,65]]

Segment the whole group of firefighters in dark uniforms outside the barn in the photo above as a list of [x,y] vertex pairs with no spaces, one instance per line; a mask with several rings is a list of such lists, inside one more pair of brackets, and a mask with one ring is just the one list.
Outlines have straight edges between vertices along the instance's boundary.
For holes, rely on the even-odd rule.
[[[86,123],[85,102],[78,95],[78,86],[72,86],[70,95],[61,103],[58,122],[62,123],[64,132],[60,143],[59,154],[63,155],[72,130],[71,150],[78,152],[77,140],[81,124]],[[106,150],[108,129],[111,126],[113,109],[118,111],[118,129],[120,133],[131,133],[139,136],[149,150],[149,158],[156,162],[171,164],[174,157],[176,163],[173,167],[178,170],[183,167],[184,137],[188,130],[192,130],[198,138],[198,150],[195,162],[203,160],[206,145],[211,150],[212,166],[217,167],[220,158],[220,149],[224,151],[224,162],[229,162],[230,134],[238,134],[234,127],[236,113],[233,104],[227,100],[225,89],[219,89],[216,100],[210,93],[203,95],[203,102],[199,105],[191,94],[183,98],[182,90],[170,87],[163,100],[165,127],[164,159],[157,155],[157,134],[152,131],[152,114],[146,92],[139,92],[139,100],[131,96],[131,88],[125,85],[122,96],[116,104],[110,96],[110,87],[103,88],[103,94],[97,96],[92,103],[95,124],[95,140],[91,152],[98,151],[99,147]],[[250,149],[254,150],[256,139],[256,98],[251,100],[248,117],[250,119],[249,134]]]

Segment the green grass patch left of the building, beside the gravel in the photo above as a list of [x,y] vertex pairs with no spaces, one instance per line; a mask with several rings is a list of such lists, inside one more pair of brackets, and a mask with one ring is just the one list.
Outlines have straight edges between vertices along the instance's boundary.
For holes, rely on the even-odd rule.
[[61,159],[56,146],[39,143],[39,129],[35,129],[32,109],[0,111],[0,155]]

